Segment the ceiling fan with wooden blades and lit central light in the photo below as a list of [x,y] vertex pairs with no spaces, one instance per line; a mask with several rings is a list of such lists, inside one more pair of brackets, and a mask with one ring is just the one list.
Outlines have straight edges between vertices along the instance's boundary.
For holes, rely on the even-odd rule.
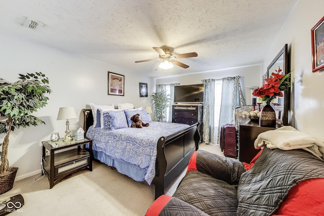
[[190,57],[197,57],[197,53],[184,53],[184,54],[179,54],[179,55],[172,55],[172,51],[170,48],[158,48],[158,47],[153,47],[153,49],[159,54],[159,58],[157,59],[146,59],[146,60],[141,60],[141,61],[136,61],[135,63],[140,63],[140,62],[149,62],[149,61],[161,61],[159,64],[159,68],[162,69],[170,69],[175,65],[178,65],[183,68],[188,68],[189,65],[183,64],[176,59],[183,59],[183,58],[190,58]]

